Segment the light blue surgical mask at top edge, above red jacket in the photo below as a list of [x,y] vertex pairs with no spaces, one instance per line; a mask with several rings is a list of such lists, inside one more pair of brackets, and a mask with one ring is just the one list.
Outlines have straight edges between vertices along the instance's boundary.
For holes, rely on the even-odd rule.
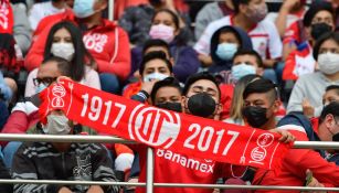
[[73,12],[76,18],[88,18],[95,12],[93,10],[95,0],[74,0]]

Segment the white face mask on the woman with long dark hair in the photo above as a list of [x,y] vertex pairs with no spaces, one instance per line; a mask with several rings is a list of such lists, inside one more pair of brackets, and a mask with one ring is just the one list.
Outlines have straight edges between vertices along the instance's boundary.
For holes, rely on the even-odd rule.
[[66,61],[72,61],[75,50],[72,43],[53,43],[51,52],[54,56],[62,57]]

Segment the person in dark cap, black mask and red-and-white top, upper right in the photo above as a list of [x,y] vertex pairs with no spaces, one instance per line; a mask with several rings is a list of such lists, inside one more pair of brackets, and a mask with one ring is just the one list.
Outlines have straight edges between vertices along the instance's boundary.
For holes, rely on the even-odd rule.
[[312,3],[304,20],[295,22],[286,32],[284,39],[285,67],[284,81],[296,81],[304,74],[316,69],[316,61],[311,55],[317,39],[335,30],[335,13],[327,2]]

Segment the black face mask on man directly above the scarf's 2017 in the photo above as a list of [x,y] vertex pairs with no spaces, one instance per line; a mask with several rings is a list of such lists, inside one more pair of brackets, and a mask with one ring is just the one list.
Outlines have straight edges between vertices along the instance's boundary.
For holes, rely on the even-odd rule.
[[188,100],[188,109],[190,112],[198,117],[208,118],[215,111],[215,100],[205,93],[193,95]]

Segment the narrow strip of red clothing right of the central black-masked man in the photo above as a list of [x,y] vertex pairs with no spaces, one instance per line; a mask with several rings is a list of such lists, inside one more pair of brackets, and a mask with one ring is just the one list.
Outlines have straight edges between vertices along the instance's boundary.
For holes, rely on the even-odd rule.
[[230,117],[230,110],[232,105],[232,98],[234,93],[234,85],[233,84],[221,84],[221,98],[220,104],[222,105],[222,111],[220,114],[221,120],[224,120]]

